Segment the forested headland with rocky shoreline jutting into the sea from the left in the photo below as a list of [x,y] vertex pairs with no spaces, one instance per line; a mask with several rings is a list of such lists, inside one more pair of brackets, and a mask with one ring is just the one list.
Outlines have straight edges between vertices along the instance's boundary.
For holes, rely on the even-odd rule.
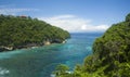
[[30,16],[0,15],[0,51],[62,43],[68,31]]

